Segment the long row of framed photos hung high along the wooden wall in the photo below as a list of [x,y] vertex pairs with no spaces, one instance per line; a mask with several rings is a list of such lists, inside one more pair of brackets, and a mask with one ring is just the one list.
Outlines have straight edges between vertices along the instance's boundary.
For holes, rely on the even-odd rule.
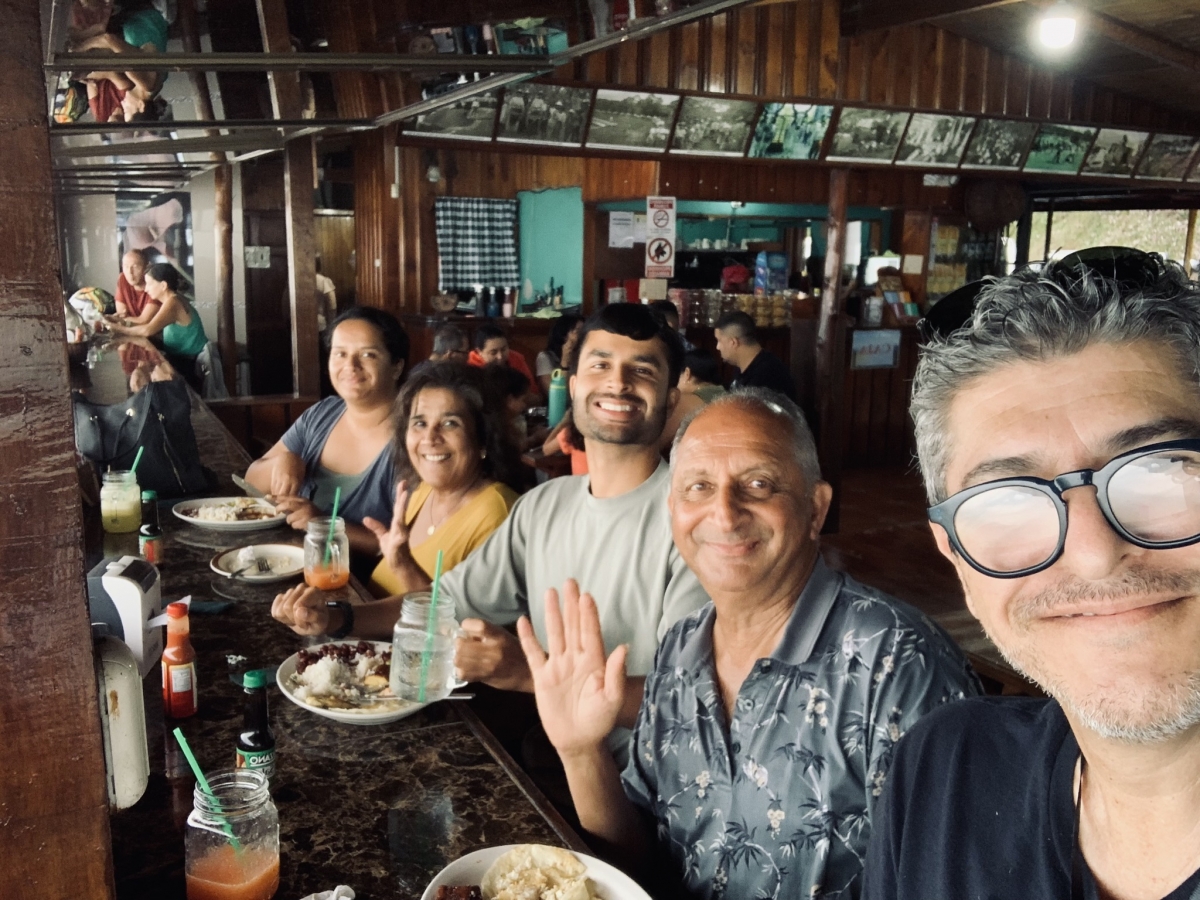
[[[595,150],[1180,181],[1200,138],[941,113],[526,83],[418,116],[409,134]],[[828,146],[826,146],[828,144]],[[823,152],[822,152],[823,151]],[[1200,181],[1200,166],[1190,180]]]

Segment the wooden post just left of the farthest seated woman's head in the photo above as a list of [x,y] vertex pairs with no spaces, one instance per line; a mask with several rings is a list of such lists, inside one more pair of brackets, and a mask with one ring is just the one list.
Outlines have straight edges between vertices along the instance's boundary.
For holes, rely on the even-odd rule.
[[312,175],[312,138],[289,140],[283,150],[283,209],[288,234],[288,294],[292,301],[292,389],[298,397],[320,394]]

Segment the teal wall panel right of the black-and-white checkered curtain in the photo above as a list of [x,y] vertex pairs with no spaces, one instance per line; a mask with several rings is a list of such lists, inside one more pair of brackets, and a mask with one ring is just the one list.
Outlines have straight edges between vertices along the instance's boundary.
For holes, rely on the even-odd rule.
[[518,191],[517,202],[522,288],[529,280],[536,295],[553,278],[564,306],[583,302],[582,188]]

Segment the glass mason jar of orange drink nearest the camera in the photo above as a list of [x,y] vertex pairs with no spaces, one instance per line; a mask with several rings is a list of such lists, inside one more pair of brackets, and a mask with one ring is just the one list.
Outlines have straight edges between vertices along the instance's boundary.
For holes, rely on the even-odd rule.
[[187,895],[270,900],[280,887],[280,815],[266,775],[234,769],[197,785],[184,834]]

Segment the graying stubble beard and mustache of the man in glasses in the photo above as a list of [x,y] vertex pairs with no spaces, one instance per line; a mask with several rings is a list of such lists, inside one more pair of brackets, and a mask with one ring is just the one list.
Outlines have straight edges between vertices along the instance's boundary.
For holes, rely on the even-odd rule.
[[[966,586],[964,590],[970,593]],[[1021,634],[1027,632],[1030,623],[1039,616],[1085,598],[1111,599],[1152,593],[1194,596],[1198,590],[1200,574],[1130,569],[1102,586],[1079,582],[1052,586],[1018,604],[1010,612],[1010,619],[1016,632]],[[1128,744],[1154,744],[1200,725],[1200,670],[1175,672],[1157,682],[1123,680],[1117,691],[1081,689],[1079,679],[1056,673],[1034,643],[1006,646],[983,620],[980,624],[1013,668],[1039,685],[1085,728],[1102,738]],[[1147,648],[1147,653],[1153,653],[1153,648]]]

